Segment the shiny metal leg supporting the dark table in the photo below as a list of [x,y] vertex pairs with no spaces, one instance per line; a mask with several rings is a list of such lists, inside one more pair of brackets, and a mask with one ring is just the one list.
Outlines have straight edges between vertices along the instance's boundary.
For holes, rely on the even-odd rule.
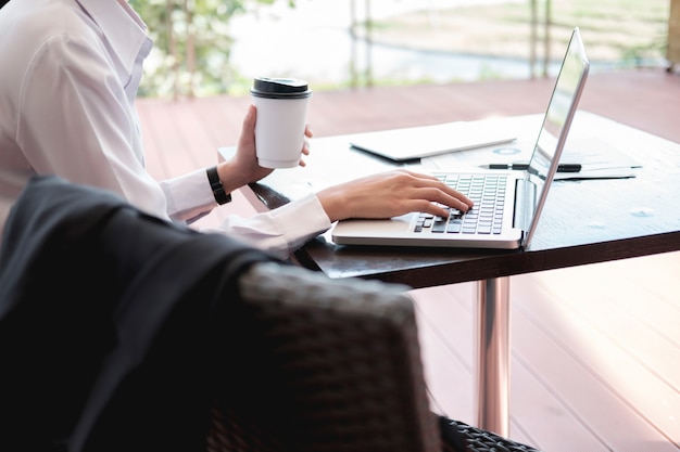
[[509,277],[477,283],[478,426],[503,437],[509,430]]

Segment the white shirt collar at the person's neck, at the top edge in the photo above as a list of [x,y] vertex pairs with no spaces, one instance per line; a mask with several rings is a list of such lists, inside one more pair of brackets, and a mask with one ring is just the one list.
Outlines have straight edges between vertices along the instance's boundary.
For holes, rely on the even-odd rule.
[[131,73],[138,55],[142,51],[149,53],[151,48],[151,39],[147,36],[147,24],[126,0],[76,1],[101,28],[113,52]]

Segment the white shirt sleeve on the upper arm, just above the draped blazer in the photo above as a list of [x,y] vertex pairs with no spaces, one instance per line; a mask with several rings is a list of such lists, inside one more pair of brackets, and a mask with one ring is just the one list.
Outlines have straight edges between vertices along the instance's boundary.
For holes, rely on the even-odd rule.
[[38,48],[20,93],[17,144],[38,173],[114,191],[167,218],[163,190],[143,167],[134,104],[98,46],[56,35]]

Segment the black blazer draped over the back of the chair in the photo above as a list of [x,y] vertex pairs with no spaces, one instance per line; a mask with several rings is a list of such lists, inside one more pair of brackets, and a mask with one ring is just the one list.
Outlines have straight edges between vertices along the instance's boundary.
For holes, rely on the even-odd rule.
[[112,193],[33,179],[0,250],[0,450],[205,451],[228,375],[221,324],[238,275],[264,260]]

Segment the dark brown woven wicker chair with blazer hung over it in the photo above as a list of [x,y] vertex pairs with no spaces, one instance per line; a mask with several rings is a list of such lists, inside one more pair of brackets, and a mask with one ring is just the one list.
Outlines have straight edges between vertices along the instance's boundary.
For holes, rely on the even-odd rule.
[[[417,326],[404,287],[260,263],[240,280],[210,452],[429,452]],[[237,312],[238,311],[238,312]],[[534,451],[448,421],[469,451]]]

